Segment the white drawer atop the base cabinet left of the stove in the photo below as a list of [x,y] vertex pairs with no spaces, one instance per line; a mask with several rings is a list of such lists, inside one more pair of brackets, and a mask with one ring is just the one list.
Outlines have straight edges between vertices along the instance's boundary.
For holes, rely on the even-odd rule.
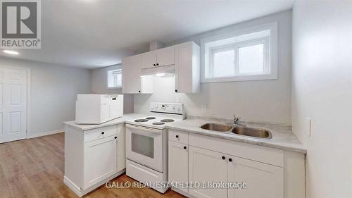
[[94,140],[99,140],[104,137],[109,137],[111,135],[117,135],[118,128],[117,125],[107,126],[103,128],[95,128],[92,130],[84,131],[84,142],[91,142]]

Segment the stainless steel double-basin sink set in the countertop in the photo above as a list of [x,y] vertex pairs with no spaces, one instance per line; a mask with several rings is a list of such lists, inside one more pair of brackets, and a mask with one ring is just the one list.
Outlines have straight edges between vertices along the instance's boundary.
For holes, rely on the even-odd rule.
[[237,135],[244,135],[249,137],[256,137],[260,139],[271,139],[272,135],[269,130],[260,129],[260,128],[249,128],[246,126],[238,125],[225,125],[220,123],[206,123],[201,125],[202,129],[205,130],[215,130],[218,132],[229,132]]

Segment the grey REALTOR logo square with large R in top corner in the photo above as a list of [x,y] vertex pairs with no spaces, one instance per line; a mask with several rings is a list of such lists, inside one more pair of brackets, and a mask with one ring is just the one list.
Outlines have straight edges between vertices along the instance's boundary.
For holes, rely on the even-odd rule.
[[40,0],[1,0],[1,49],[39,49]]

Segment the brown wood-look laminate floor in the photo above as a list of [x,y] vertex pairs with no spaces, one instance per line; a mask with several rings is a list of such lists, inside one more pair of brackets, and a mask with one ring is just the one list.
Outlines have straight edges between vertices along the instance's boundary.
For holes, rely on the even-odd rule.
[[[0,198],[77,197],[63,183],[64,133],[0,144]],[[122,175],[111,182],[134,182]],[[183,197],[168,190],[160,194],[149,188],[107,188],[102,185],[87,198]]]

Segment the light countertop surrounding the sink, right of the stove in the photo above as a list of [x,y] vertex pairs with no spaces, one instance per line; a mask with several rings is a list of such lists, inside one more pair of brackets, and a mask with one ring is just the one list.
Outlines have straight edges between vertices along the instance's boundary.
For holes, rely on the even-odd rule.
[[306,154],[306,148],[303,147],[303,144],[299,142],[296,135],[294,135],[294,133],[291,131],[291,125],[279,125],[269,123],[244,123],[248,127],[263,128],[265,130],[270,130],[270,132],[272,133],[271,139],[246,137],[244,135],[236,135],[232,132],[217,132],[214,130],[204,130],[201,128],[201,125],[205,123],[229,124],[229,121],[230,120],[220,120],[213,118],[187,118],[187,120],[182,120],[177,123],[170,123],[167,128]]

